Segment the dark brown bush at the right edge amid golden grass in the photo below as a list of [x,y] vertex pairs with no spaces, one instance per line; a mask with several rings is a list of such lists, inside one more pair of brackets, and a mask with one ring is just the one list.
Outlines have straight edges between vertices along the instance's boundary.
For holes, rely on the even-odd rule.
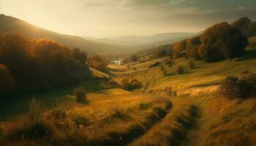
[[247,99],[256,96],[256,74],[247,73],[241,77],[227,77],[222,81],[221,93],[229,99]]

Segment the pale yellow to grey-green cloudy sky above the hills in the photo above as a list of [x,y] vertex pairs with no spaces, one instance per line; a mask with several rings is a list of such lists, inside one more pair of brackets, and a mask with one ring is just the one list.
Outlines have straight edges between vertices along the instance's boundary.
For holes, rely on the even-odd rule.
[[256,0],[0,0],[0,13],[61,34],[152,35],[256,20]]

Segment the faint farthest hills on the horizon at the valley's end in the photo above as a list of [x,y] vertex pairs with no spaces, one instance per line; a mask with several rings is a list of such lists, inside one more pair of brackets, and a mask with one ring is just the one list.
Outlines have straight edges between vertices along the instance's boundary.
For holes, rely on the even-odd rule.
[[106,37],[105,40],[114,40],[120,43],[128,43],[133,45],[163,45],[172,42],[176,42],[187,37],[195,36],[198,33],[188,33],[188,32],[171,32],[154,34],[152,36],[118,36],[118,37]]

